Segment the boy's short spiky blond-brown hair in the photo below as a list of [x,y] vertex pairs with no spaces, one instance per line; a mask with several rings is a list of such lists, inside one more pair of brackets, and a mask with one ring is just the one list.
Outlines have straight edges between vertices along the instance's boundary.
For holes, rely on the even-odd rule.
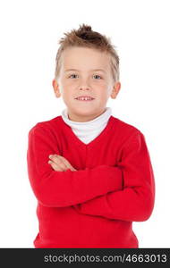
[[113,74],[113,79],[119,80],[119,56],[115,51],[115,46],[111,44],[110,38],[101,35],[97,31],[93,31],[91,26],[80,25],[79,29],[72,29],[71,32],[64,33],[65,38],[61,38],[56,57],[55,57],[55,80],[58,79],[61,70],[61,55],[64,49],[72,46],[81,46],[96,48],[101,52],[110,54],[110,66]]

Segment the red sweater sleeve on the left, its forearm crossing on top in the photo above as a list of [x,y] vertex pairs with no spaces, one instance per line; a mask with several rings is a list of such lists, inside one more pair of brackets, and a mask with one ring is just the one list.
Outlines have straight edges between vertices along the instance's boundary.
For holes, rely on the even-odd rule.
[[48,162],[48,155],[60,154],[56,138],[46,127],[34,126],[29,132],[27,166],[30,186],[45,206],[76,205],[94,197],[123,188],[119,167],[102,164],[95,168],[72,172],[56,172]]

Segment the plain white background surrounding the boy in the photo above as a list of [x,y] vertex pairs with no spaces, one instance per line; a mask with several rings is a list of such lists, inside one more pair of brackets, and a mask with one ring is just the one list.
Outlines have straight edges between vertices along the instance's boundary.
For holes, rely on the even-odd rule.
[[170,1],[0,2],[0,247],[33,247],[37,200],[27,173],[28,132],[61,114],[52,88],[64,32],[91,25],[120,56],[121,91],[113,115],[144,135],[156,180],[146,222],[133,222],[140,247],[170,247]]

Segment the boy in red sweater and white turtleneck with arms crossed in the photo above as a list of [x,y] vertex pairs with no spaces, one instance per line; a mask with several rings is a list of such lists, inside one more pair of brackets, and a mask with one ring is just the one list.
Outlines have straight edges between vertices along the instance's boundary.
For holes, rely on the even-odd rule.
[[29,132],[34,246],[139,247],[132,222],[152,214],[155,180],[144,135],[106,107],[121,88],[119,57],[89,25],[65,36],[53,87],[66,109]]

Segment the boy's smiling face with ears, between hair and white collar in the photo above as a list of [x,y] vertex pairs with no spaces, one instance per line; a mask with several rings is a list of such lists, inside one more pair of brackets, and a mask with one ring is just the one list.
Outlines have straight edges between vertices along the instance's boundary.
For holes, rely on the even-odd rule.
[[[53,87],[57,97],[63,96],[69,119],[91,121],[104,113],[109,96],[115,98],[121,87],[113,80],[109,56],[97,49],[69,47],[62,54],[61,65],[59,80],[53,80]],[[76,99],[78,96],[94,99],[81,101]]]

